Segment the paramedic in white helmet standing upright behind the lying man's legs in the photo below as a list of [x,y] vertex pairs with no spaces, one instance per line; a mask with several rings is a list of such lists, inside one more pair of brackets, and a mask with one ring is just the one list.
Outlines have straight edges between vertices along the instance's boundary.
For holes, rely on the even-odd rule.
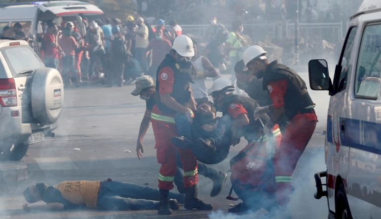
[[[173,42],[172,50],[166,55],[157,69],[156,91],[158,92],[156,105],[151,112],[152,129],[155,137],[157,162],[162,165],[158,178],[160,190],[160,205],[158,214],[169,215],[172,210],[168,205],[168,193],[173,189],[173,180],[176,173],[176,149],[183,164],[185,187],[184,208],[192,210],[211,210],[211,204],[205,204],[197,198],[197,160],[190,148],[180,148],[171,142],[172,137],[178,136],[175,114],[177,112],[190,115],[191,109],[196,109],[192,97],[193,83],[190,74],[194,69],[190,59],[195,55],[193,43],[185,35],[178,36]],[[191,71],[192,70],[192,71]],[[190,73],[189,73],[190,72]],[[189,118],[189,122],[192,117]]]

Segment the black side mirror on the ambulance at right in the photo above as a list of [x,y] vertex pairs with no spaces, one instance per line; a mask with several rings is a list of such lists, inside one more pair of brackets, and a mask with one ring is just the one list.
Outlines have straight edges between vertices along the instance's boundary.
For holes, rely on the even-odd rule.
[[309,86],[313,90],[330,90],[331,80],[328,64],[324,59],[313,59],[308,62]]

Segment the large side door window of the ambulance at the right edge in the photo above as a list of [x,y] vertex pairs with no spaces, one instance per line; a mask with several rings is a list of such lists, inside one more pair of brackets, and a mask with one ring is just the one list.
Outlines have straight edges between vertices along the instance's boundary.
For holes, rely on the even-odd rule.
[[361,39],[355,78],[355,97],[376,100],[381,72],[381,24],[369,25]]

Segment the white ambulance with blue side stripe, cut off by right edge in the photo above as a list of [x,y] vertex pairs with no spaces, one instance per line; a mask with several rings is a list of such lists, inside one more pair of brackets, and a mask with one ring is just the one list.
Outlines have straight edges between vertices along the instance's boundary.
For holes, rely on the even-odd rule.
[[331,96],[315,198],[327,197],[328,218],[381,218],[381,0],[365,0],[351,17],[333,83],[326,60],[308,67],[311,89]]

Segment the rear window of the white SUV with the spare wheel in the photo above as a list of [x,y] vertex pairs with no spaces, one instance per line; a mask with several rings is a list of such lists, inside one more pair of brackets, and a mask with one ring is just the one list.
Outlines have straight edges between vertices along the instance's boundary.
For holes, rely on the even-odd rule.
[[28,70],[36,70],[44,67],[44,64],[30,46],[10,46],[0,49],[13,77],[21,77],[19,74]]

